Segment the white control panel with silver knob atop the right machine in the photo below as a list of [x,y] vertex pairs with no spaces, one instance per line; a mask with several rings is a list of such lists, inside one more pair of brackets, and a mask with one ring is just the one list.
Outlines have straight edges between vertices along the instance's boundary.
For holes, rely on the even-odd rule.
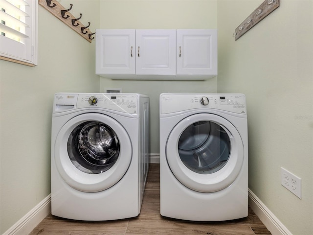
[[160,113],[170,114],[192,109],[218,109],[246,114],[244,94],[161,94]]

